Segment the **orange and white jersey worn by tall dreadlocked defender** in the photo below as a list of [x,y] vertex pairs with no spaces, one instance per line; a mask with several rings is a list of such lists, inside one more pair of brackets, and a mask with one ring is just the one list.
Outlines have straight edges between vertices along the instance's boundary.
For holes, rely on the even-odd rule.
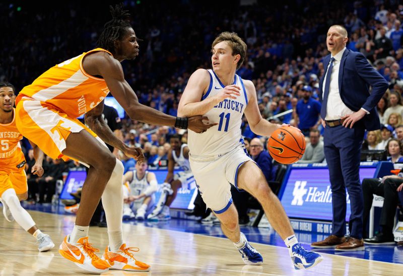
[[51,105],[71,118],[77,118],[97,106],[109,93],[105,80],[87,74],[83,68],[84,57],[94,50],[61,62],[23,88],[16,99],[28,96],[43,105]]

